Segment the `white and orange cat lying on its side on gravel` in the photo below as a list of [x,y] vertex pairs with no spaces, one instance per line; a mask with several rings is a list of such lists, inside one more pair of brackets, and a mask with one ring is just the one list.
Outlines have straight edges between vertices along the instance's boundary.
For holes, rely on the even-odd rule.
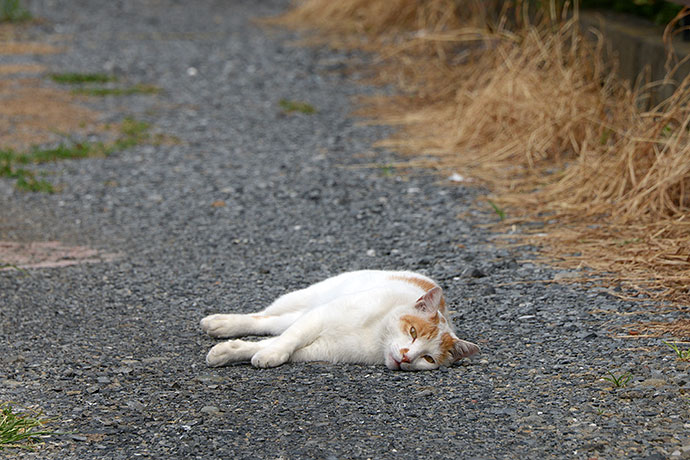
[[346,272],[285,294],[256,313],[207,316],[201,328],[212,337],[276,336],[219,343],[206,356],[212,367],[330,361],[412,371],[449,366],[479,352],[455,335],[438,284],[409,271]]

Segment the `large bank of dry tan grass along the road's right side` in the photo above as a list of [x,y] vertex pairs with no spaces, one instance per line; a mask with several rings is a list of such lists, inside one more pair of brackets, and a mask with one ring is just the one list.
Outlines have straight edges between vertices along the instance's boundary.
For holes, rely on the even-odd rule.
[[596,33],[546,3],[530,24],[487,1],[306,0],[277,22],[378,53],[401,89],[363,101],[401,127],[382,145],[480,179],[510,225],[543,221],[524,237],[558,263],[687,308],[690,80],[641,108],[651,85],[618,80]]

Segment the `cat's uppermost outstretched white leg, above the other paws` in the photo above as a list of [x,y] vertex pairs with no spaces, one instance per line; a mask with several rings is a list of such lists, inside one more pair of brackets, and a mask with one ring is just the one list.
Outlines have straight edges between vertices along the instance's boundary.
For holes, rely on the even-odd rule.
[[280,335],[301,312],[270,315],[256,314],[216,314],[201,320],[201,329],[211,337],[242,337],[245,335]]

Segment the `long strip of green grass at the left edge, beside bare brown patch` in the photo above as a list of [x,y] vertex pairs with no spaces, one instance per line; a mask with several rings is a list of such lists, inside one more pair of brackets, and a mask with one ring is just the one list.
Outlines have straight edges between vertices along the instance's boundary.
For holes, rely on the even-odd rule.
[[149,123],[125,118],[120,124],[119,137],[110,143],[60,144],[54,148],[34,148],[24,153],[11,149],[0,150],[0,177],[15,179],[15,186],[20,190],[54,193],[55,187],[50,182],[38,178],[36,173],[27,169],[26,166],[60,160],[105,157],[138,144],[157,142],[159,138],[151,135],[150,128]]

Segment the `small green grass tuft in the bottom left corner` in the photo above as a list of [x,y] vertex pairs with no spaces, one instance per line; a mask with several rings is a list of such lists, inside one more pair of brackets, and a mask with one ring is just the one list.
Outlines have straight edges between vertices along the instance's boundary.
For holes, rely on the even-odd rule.
[[46,420],[40,417],[40,412],[17,412],[9,403],[0,404],[0,451],[31,449],[42,437],[55,434],[41,429]]

